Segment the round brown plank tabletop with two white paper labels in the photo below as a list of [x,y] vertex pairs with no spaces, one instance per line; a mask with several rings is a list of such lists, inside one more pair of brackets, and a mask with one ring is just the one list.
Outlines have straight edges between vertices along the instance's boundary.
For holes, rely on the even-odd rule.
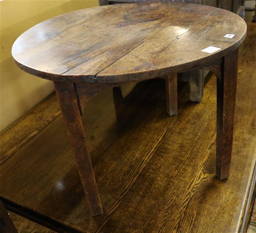
[[[116,4],[41,22],[20,35],[12,54],[22,70],[45,79],[124,82],[205,66],[236,49],[245,35],[241,17],[216,7]],[[201,51],[210,46],[220,49]]]

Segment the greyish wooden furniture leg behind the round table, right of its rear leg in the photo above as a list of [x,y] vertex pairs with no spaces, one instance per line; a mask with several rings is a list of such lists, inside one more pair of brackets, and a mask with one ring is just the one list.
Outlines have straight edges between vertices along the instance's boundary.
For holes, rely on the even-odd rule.
[[204,77],[202,69],[194,69],[189,77],[190,95],[189,99],[193,102],[201,102],[204,88]]

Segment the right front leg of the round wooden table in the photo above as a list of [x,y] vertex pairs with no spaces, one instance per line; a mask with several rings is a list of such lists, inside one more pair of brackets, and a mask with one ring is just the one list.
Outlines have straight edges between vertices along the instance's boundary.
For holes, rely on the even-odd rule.
[[216,175],[229,176],[236,101],[238,49],[223,58],[221,80],[217,79]]

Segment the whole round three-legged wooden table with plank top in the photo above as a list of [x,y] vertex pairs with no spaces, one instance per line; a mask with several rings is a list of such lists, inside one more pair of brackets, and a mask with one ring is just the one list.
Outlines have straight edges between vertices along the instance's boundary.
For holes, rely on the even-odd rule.
[[106,87],[164,77],[169,106],[177,100],[177,73],[196,67],[214,72],[216,174],[219,179],[228,178],[238,47],[245,35],[245,22],[229,11],[151,2],[66,13],[37,24],[14,42],[12,54],[20,69],[54,81],[93,215],[103,210],[81,115],[88,99]]

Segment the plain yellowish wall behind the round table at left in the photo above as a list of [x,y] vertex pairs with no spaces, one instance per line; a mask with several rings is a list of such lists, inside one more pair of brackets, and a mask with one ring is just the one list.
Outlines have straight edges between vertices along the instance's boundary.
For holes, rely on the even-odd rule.
[[13,42],[30,27],[56,15],[98,6],[98,0],[0,1],[0,131],[54,91],[51,81],[21,71],[13,62]]

